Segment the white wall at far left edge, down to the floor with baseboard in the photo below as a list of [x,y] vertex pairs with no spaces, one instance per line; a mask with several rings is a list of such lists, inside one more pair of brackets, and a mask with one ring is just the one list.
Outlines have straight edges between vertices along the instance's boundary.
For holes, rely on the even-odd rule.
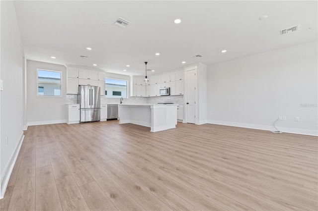
[[3,80],[3,91],[0,92],[0,197],[2,198],[23,140],[23,53],[13,1],[0,1],[0,5],[0,76]]

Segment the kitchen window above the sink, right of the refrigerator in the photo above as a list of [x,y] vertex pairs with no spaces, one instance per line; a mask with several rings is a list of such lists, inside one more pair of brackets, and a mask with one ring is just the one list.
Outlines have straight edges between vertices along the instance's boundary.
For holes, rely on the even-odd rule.
[[127,81],[105,78],[105,98],[127,98]]

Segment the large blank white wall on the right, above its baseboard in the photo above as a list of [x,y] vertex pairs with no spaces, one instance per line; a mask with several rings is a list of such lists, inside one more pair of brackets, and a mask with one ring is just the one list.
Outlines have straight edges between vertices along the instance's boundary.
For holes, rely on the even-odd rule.
[[282,115],[287,120],[277,127],[283,132],[317,135],[317,46],[312,42],[208,65],[208,122],[274,129]]

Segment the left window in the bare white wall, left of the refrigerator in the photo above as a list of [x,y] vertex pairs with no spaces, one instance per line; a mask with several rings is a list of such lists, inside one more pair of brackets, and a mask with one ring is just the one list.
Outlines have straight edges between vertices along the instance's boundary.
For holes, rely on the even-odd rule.
[[62,72],[38,69],[38,96],[61,96]]

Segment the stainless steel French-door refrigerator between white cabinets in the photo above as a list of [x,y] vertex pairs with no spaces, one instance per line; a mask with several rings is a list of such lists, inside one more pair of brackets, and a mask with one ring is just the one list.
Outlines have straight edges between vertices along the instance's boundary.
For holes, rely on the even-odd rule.
[[80,122],[100,121],[100,88],[79,86]]

